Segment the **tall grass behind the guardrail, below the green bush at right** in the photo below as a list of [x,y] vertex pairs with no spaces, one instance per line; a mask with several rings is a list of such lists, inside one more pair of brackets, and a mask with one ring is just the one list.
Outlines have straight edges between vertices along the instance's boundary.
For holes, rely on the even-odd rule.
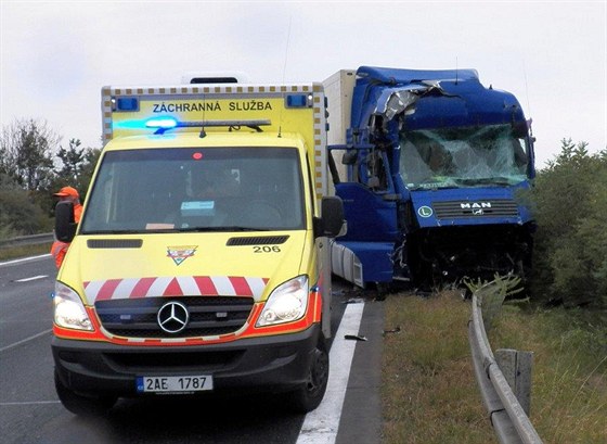
[[571,309],[504,308],[489,340],[492,347],[533,352],[530,418],[542,440],[606,442],[606,324],[587,324],[587,313]]

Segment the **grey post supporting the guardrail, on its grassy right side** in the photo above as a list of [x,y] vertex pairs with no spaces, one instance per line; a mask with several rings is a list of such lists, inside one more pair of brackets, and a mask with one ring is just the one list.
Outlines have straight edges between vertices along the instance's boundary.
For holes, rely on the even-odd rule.
[[531,409],[531,367],[533,352],[519,352],[512,348],[495,351],[495,361],[502,370],[518,403],[529,416]]

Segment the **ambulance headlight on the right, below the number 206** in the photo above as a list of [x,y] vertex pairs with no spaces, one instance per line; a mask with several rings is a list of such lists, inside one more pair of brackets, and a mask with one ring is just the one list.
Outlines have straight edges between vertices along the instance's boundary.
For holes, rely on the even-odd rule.
[[309,286],[306,276],[299,276],[279,286],[268,297],[256,327],[293,322],[308,308]]

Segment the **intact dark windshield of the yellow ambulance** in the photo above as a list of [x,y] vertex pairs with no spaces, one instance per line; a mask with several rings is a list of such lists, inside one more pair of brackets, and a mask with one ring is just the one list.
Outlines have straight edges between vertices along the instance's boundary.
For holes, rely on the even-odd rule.
[[108,151],[81,232],[301,229],[302,195],[295,149]]

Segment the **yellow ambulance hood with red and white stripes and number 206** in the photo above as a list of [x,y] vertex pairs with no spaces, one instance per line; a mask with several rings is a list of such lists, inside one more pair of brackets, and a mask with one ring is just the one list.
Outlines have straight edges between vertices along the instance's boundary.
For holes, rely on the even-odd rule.
[[301,262],[311,243],[306,237],[306,231],[79,236],[59,280],[82,282],[79,290],[88,305],[185,295],[262,301],[285,280],[310,272]]

